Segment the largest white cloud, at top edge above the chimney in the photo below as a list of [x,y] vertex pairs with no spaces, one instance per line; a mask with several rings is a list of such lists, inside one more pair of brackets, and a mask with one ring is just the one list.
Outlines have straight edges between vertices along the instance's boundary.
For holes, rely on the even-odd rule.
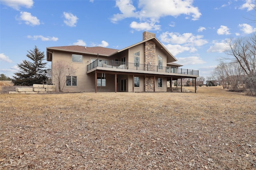
[[[133,2],[138,3],[138,10],[133,5]],[[125,18],[137,18],[140,22],[133,21],[130,26],[141,30],[146,24],[150,29],[158,30],[160,25],[155,25],[159,19],[165,16],[177,17],[180,15],[192,17],[192,20],[198,20],[201,16],[197,7],[192,5],[190,0],[161,0],[150,1],[146,0],[132,1],[132,0],[116,0],[116,7],[119,8],[120,13],[114,14],[111,18],[113,23],[117,23]],[[173,25],[173,24],[172,24]],[[148,29],[147,29],[148,30]]]

